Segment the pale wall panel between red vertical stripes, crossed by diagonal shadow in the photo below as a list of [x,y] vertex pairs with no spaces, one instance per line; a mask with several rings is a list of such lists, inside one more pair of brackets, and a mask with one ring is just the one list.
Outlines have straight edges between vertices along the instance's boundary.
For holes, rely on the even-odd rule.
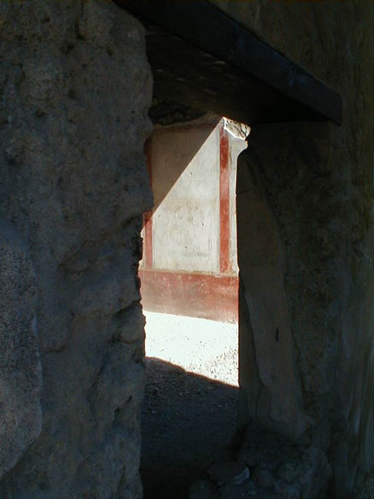
[[[176,172],[179,177],[175,178]],[[152,138],[153,267],[219,271],[219,129],[178,128]]]

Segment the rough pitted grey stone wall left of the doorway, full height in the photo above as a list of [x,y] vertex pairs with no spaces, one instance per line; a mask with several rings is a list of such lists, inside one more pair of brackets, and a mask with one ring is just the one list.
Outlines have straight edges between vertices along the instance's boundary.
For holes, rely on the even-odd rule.
[[0,36],[0,497],[140,498],[143,28],[1,0]]

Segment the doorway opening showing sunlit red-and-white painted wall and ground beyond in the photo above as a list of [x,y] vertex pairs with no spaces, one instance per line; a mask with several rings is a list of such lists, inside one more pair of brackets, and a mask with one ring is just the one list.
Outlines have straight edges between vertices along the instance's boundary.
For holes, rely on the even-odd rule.
[[183,499],[213,462],[229,458],[236,430],[235,180],[248,130],[235,137],[223,118],[160,98],[150,116],[141,476],[145,499]]

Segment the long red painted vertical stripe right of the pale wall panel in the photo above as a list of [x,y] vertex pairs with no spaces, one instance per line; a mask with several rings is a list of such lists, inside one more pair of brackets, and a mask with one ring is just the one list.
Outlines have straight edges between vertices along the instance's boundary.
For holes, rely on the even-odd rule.
[[230,270],[230,179],[228,137],[219,131],[219,267],[221,273]]

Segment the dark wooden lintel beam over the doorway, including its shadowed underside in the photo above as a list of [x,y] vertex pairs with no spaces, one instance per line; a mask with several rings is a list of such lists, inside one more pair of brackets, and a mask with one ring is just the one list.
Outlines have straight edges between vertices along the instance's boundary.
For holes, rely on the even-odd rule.
[[156,91],[251,125],[342,122],[337,92],[209,2],[115,1],[151,22],[147,51]]

